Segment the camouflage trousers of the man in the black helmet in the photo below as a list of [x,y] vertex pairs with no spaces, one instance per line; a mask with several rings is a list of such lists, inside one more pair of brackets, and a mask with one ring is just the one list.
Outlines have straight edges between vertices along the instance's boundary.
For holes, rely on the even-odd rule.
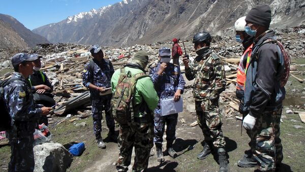
[[[218,102],[218,101],[217,101]],[[195,101],[197,122],[202,130],[204,140],[215,148],[225,147],[225,137],[221,130],[222,116],[219,108],[208,100]]]

